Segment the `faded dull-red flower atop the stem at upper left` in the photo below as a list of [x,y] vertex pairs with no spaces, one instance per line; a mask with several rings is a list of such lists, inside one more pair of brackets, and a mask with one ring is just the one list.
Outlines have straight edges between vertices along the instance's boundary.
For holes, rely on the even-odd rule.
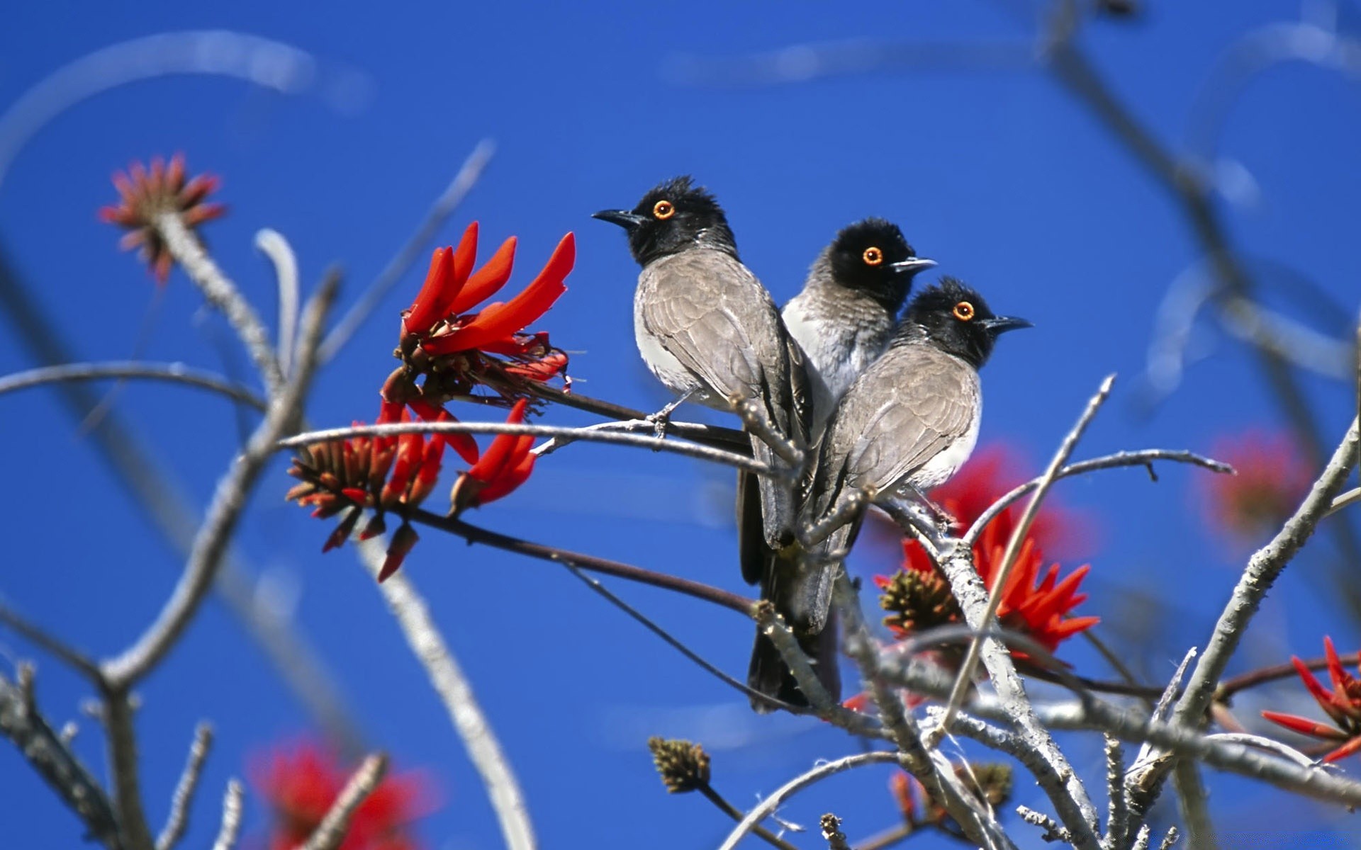
[[171,156],[169,163],[157,156],[151,160],[150,169],[133,162],[127,173],[113,174],[113,185],[120,196],[118,204],[101,208],[99,218],[129,231],[118,246],[124,250],[140,249],[140,256],[157,283],[165,286],[174,260],[155,227],[157,216],[176,212],[191,230],[219,218],[226,212],[226,207],[206,203],[216,190],[218,182],[218,178],[210,174],[188,180],[182,154]]

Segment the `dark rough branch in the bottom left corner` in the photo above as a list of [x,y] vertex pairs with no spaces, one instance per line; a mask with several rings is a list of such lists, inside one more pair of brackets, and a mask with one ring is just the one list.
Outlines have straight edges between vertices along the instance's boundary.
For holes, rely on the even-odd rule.
[[19,681],[0,675],[0,734],[10,738],[34,771],[80,819],[90,835],[109,850],[122,850],[113,804],[90,770],[38,713],[33,669],[19,668]]

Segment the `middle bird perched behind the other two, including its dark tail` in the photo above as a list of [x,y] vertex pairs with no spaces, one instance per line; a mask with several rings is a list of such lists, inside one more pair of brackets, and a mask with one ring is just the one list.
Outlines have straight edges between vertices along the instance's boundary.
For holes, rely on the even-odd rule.
[[[935,265],[934,260],[916,256],[897,224],[868,218],[844,227],[808,269],[799,292],[784,307],[784,324],[808,358],[808,384],[813,392],[811,442],[815,442],[836,403],[851,388],[856,375],[889,344],[898,310],[912,288],[912,277]],[[799,568],[802,554],[796,548],[783,552],[765,545],[758,533],[764,528],[761,502],[755,498],[749,473],[738,475],[738,548],[742,574],[750,583],[761,585],[762,598],[769,598],[787,619],[800,596],[815,592],[806,586],[808,578]],[[836,665],[836,628],[819,630],[815,641],[804,642],[804,651],[818,665]],[[830,672],[823,684],[833,681]],[[747,668],[747,684],[768,696],[803,706],[807,699],[798,690],[778,650],[764,634],[757,634]],[[833,698],[840,688],[829,687]],[[757,711],[768,703],[753,700]]]

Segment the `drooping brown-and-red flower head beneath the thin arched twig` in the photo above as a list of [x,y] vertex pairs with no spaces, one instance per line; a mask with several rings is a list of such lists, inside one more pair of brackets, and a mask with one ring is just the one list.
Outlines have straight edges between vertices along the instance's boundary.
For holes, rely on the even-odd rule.
[[[444,411],[438,413],[440,419],[453,419]],[[401,405],[384,403],[378,424],[395,422],[412,422],[412,418]],[[361,540],[387,530],[387,511],[399,514],[403,522],[388,545],[388,560],[378,574],[378,581],[382,581],[397,571],[418,540],[408,515],[434,490],[446,445],[468,462],[478,460],[478,443],[465,434],[355,437],[305,446],[289,469],[289,475],[302,483],[284,498],[313,506],[312,515],[321,520],[346,513],[327,539],[323,552],[350,539],[365,509],[373,510],[374,515],[359,533]]]

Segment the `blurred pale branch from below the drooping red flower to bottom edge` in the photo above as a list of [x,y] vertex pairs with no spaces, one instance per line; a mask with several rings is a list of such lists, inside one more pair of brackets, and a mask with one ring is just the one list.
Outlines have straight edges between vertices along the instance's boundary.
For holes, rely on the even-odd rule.
[[[378,537],[365,540],[358,547],[365,568],[374,578],[382,571],[385,548]],[[478,706],[472,687],[436,627],[425,600],[416,593],[406,573],[388,577],[385,582],[378,585],[378,590],[401,627],[411,651],[415,653],[430,676],[430,684],[449,713],[455,730],[463,738],[468,758],[482,777],[482,783],[487,787],[487,796],[491,798],[491,808],[495,809],[497,820],[501,823],[501,835],[505,838],[506,846],[510,850],[534,850],[536,846],[534,826],[529,823],[529,812],[520,783],[516,781],[510,762],[502,752],[491,725]]]

